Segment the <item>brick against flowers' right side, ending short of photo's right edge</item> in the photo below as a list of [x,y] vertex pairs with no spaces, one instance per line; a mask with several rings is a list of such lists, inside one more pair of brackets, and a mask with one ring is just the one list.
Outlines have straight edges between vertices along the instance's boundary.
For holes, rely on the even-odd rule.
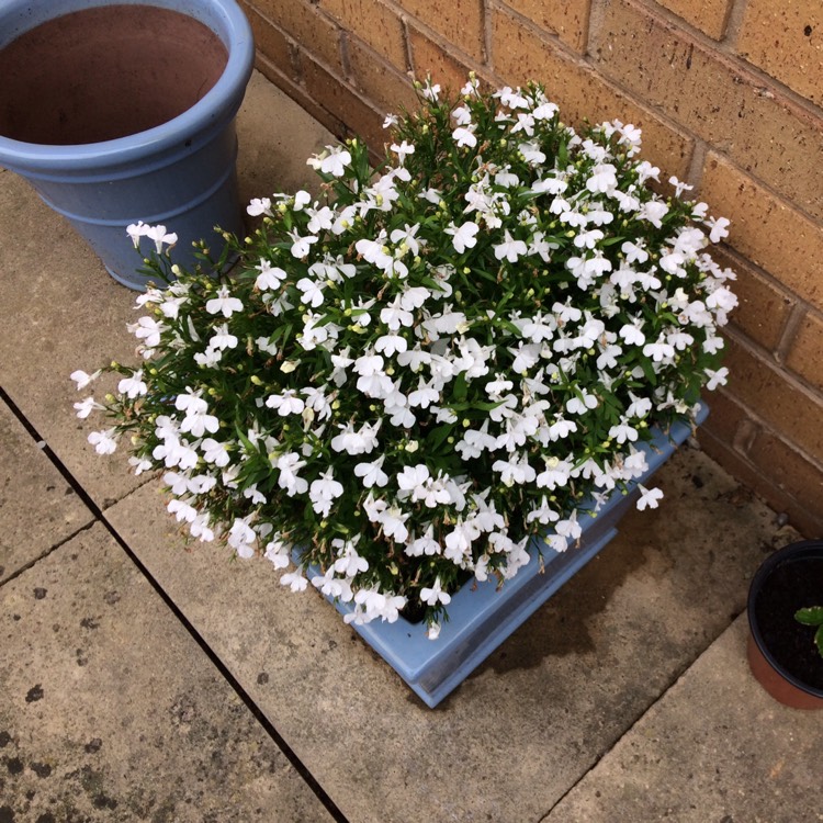
[[[732,230],[736,230],[734,225]],[[797,303],[794,297],[741,258],[732,258],[722,246],[712,249],[712,257],[720,266],[737,274],[733,291],[739,305],[731,314],[732,325],[764,349],[777,349],[786,322]]]

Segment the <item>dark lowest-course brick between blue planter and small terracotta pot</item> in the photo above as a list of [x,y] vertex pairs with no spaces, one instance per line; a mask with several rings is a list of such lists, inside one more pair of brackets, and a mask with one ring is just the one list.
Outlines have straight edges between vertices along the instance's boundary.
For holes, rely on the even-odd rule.
[[768,466],[753,464],[706,426],[700,428],[698,439],[703,451],[740,483],[760,496],[775,511],[788,515],[789,523],[801,534],[818,538],[823,533],[823,514],[819,504],[812,501],[810,506],[797,500],[773,481]]

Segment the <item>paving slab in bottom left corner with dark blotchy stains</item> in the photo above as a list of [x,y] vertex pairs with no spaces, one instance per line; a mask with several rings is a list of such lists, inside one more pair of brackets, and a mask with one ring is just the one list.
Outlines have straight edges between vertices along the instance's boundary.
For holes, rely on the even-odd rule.
[[328,821],[98,525],[0,588],[0,820]]

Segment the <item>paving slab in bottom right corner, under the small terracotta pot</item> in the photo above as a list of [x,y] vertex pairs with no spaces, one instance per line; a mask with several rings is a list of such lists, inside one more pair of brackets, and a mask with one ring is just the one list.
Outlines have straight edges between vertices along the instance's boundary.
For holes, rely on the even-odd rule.
[[741,616],[543,823],[823,820],[823,712],[752,677]]

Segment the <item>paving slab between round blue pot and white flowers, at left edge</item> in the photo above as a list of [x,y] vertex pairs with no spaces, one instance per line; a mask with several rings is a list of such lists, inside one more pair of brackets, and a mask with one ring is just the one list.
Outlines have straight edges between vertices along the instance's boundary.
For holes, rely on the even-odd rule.
[[[78,420],[76,369],[133,362],[134,293],[109,277],[69,225],[29,184],[0,171],[0,385],[100,506],[139,478],[125,458],[105,464],[86,442],[95,424]],[[97,424],[99,428],[102,424]]]

